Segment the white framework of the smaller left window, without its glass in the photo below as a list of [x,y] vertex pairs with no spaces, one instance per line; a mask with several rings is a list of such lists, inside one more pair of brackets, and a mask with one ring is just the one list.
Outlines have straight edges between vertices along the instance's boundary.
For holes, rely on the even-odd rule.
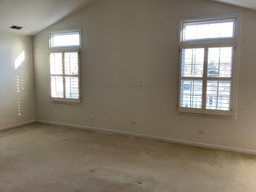
[[[79,45],[78,46],[52,46],[52,36],[56,34],[72,34],[77,33],[79,34]],[[55,103],[63,103],[63,104],[82,104],[82,94],[81,94],[81,66],[80,66],[80,52],[81,52],[81,28],[73,28],[73,29],[67,29],[67,30],[49,30],[48,31],[48,63],[50,68],[50,54],[51,53],[62,53],[62,60],[63,60],[63,98],[59,97],[53,97],[51,94],[51,81],[50,81],[50,101]],[[64,54],[66,52],[77,52],[78,53],[78,75],[66,75],[64,72]],[[54,76],[55,74],[51,74],[50,72],[50,80],[51,76]],[[58,75],[56,75],[58,76]],[[65,77],[78,77],[78,92],[79,92],[79,98],[66,98],[66,86],[65,86]]]

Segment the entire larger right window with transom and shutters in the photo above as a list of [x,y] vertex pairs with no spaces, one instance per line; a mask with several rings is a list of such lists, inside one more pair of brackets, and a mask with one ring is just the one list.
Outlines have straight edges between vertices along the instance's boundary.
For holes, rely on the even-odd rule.
[[234,116],[238,19],[180,20],[178,112]]

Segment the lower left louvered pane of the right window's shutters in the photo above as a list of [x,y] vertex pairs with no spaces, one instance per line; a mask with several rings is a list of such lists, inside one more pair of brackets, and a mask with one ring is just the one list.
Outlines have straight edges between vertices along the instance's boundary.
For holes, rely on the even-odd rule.
[[180,106],[202,108],[202,81],[181,80]]

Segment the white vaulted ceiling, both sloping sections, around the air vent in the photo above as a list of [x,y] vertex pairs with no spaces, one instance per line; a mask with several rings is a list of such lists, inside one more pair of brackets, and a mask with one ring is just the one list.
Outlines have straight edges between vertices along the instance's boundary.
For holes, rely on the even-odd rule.
[[[0,0],[0,32],[33,36],[94,0]],[[256,0],[213,0],[256,10]],[[12,25],[21,30],[10,29]]]

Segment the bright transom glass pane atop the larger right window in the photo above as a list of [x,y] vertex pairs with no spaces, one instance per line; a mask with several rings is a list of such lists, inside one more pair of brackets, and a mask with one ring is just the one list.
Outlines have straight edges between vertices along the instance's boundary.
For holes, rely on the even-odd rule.
[[234,37],[235,19],[185,23],[183,26],[183,40],[200,40],[208,38],[232,38]]

